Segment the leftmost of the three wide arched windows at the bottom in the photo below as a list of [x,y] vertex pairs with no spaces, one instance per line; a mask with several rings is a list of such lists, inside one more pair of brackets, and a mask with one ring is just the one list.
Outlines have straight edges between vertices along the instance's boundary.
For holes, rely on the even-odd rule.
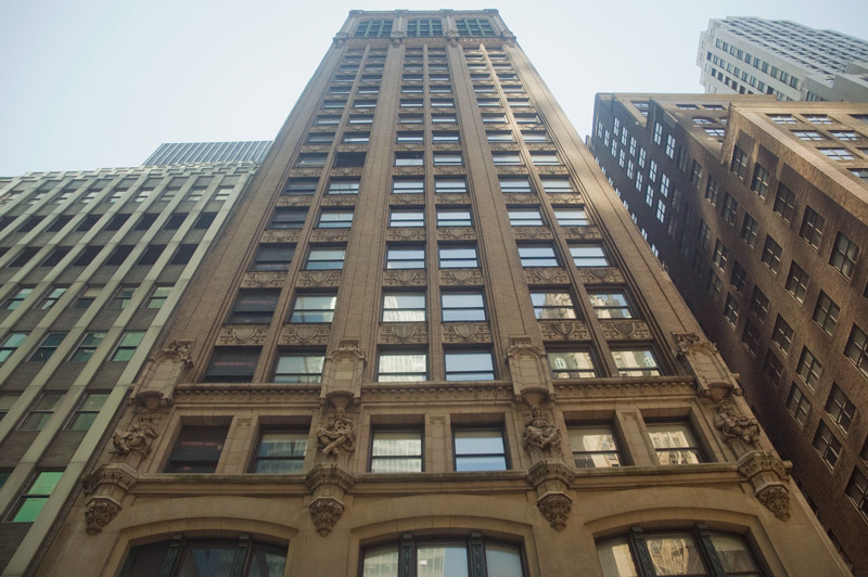
[[133,547],[122,577],[282,577],[286,547],[237,539],[187,539],[176,535],[167,541]]

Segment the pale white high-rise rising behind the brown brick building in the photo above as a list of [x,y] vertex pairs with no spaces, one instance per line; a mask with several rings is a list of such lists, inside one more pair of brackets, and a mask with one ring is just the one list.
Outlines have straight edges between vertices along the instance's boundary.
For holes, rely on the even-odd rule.
[[697,64],[706,92],[868,102],[868,42],[834,30],[754,17],[712,20],[700,35]]

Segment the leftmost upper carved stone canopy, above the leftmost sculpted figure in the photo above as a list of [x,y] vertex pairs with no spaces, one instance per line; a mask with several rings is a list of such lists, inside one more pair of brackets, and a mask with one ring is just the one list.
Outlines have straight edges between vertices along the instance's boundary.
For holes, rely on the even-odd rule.
[[192,350],[192,341],[173,341],[154,352],[132,389],[136,403],[150,410],[171,405],[178,381],[193,366]]

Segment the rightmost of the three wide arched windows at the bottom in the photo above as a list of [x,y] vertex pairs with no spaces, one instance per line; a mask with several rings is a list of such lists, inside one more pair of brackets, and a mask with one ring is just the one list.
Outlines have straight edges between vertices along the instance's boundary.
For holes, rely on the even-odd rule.
[[741,535],[668,530],[644,534],[641,529],[597,543],[607,576],[655,575],[763,575]]

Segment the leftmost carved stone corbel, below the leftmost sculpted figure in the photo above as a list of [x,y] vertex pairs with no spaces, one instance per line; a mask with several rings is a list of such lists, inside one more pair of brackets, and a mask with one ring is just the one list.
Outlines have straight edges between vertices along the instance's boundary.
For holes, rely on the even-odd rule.
[[139,475],[125,463],[110,463],[84,479],[85,493],[91,498],[85,509],[88,535],[97,535],[120,512],[120,502],[136,485]]

